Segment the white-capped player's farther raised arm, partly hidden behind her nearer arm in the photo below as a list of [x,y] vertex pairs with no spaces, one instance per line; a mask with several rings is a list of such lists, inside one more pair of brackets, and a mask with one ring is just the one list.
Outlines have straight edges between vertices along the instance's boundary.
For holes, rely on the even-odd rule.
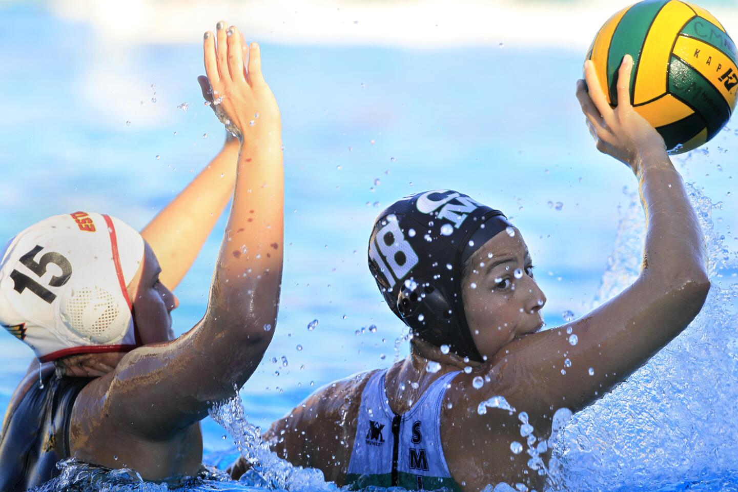
[[233,195],[239,144],[227,135],[210,164],[141,231],[162,267],[159,280],[172,290],[187,274]]

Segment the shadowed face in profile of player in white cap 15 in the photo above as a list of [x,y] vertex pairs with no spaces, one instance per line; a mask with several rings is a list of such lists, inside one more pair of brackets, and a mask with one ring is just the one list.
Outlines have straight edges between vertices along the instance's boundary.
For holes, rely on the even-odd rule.
[[162,269],[151,246],[146,243],[141,268],[128,285],[128,295],[134,303],[134,316],[142,344],[167,342],[174,339],[170,312],[179,300],[161,282]]

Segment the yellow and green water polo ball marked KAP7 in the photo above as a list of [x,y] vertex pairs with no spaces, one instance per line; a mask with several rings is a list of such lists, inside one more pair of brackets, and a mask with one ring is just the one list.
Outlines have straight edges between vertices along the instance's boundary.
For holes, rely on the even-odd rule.
[[631,103],[656,127],[670,153],[703,145],[730,119],[738,92],[738,52],[707,10],[681,0],[646,0],[601,27],[587,58],[613,106],[625,55],[633,57]]

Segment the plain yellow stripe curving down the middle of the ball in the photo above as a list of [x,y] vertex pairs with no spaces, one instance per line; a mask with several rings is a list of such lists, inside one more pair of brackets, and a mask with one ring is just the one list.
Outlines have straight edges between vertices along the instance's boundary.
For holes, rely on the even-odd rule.
[[641,60],[638,61],[633,94],[634,105],[654,100],[666,92],[674,40],[692,18],[694,10],[681,1],[670,1],[661,7],[646,35]]

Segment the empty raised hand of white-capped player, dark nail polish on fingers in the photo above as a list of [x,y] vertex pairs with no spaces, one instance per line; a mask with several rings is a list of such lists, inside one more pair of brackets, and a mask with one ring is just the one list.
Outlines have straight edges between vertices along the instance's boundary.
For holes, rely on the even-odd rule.
[[239,140],[251,131],[279,132],[280,111],[261,74],[259,45],[246,45],[237,27],[220,21],[215,34],[205,32],[203,52],[207,77],[198,82],[226,129]]

